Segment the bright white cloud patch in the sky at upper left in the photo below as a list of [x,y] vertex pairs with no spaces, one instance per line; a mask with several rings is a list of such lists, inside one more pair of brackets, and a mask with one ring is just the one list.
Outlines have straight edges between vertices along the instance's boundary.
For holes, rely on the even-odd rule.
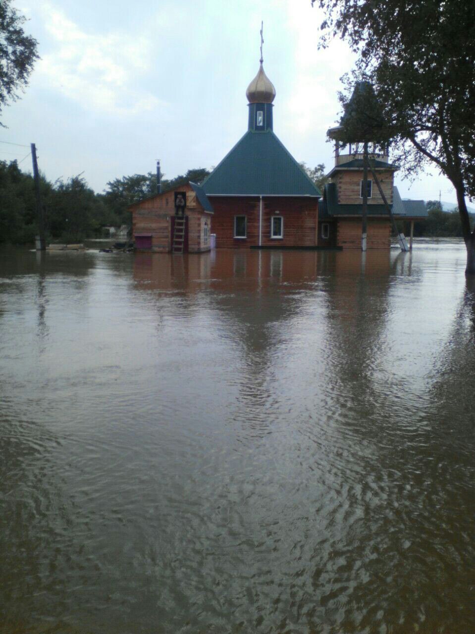
[[37,65],[42,83],[85,110],[134,117],[166,103],[144,90],[138,79],[148,71],[151,44],[128,34],[81,30],[51,3],[42,3],[47,53]]

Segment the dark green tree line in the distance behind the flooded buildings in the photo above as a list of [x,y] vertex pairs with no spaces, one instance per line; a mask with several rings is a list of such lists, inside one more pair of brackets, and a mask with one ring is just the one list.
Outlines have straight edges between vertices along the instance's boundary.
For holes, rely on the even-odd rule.
[[[302,166],[322,189],[325,166]],[[176,178],[164,178],[162,191],[188,181],[201,183],[208,174],[207,169],[200,167]],[[127,208],[157,192],[157,177],[152,172],[123,176],[109,181],[103,193],[95,193],[81,174],[53,183],[41,175],[40,191],[46,209],[48,240],[75,243],[102,237],[107,226],[129,226],[131,213]],[[415,223],[416,236],[462,236],[458,210],[444,212],[439,202],[433,200],[427,202],[427,209],[427,220]],[[22,172],[16,161],[0,161],[0,243],[32,244],[36,234],[33,177]]]

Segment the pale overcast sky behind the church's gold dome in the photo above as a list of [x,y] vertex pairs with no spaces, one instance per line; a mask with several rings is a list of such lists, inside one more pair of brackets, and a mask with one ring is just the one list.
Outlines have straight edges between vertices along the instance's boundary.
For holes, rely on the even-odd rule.
[[[0,140],[37,145],[50,180],[84,172],[107,181],[155,170],[167,178],[218,164],[247,130],[245,91],[259,68],[273,82],[274,131],[313,167],[333,164],[328,127],[339,119],[339,78],[351,68],[345,44],[318,49],[321,15],[310,0],[14,0],[29,18],[41,60],[21,100],[5,108]],[[18,150],[18,152],[17,152]],[[0,145],[1,159],[27,148]],[[30,169],[29,157],[21,167]],[[456,202],[435,171],[403,197]]]

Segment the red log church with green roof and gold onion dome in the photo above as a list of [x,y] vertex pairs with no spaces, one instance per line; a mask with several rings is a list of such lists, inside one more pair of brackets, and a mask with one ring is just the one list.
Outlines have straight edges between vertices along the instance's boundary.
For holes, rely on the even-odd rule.
[[275,88],[263,62],[246,91],[247,132],[202,184],[217,247],[313,247],[322,192],[273,131]]

